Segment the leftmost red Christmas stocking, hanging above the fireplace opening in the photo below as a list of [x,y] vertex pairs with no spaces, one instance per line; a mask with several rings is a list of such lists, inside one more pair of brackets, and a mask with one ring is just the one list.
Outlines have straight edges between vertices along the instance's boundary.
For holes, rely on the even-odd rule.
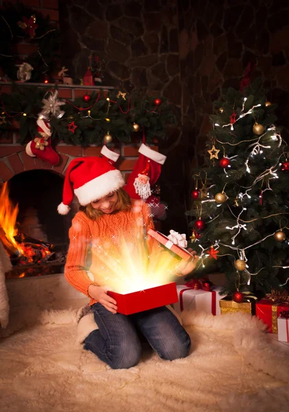
[[49,122],[45,122],[42,117],[37,119],[37,132],[41,136],[36,136],[35,139],[26,145],[26,153],[31,157],[47,161],[51,165],[59,163],[59,156],[53,148],[51,148],[51,130]]

